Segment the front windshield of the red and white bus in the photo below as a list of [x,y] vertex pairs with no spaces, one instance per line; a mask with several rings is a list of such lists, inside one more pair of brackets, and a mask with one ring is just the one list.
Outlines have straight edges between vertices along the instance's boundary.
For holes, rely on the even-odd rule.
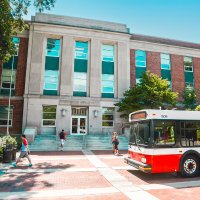
[[148,146],[150,144],[150,122],[135,122],[130,129],[130,144]]

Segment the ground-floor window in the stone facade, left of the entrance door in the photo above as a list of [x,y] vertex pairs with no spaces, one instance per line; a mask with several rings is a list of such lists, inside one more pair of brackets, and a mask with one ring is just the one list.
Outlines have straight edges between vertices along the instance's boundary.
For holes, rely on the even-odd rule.
[[42,125],[56,126],[56,106],[43,106]]

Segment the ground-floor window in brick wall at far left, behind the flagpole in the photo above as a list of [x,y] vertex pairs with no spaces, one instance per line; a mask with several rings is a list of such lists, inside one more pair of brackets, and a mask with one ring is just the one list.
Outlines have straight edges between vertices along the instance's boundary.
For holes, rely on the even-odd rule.
[[[8,106],[0,106],[0,126],[6,127],[8,122]],[[10,106],[9,126],[12,126],[13,121],[13,106]]]

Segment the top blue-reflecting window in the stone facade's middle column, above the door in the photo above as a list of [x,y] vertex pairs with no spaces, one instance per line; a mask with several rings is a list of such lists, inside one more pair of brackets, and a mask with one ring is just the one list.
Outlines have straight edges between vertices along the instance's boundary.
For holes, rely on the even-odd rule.
[[75,58],[84,60],[88,59],[88,42],[76,41]]

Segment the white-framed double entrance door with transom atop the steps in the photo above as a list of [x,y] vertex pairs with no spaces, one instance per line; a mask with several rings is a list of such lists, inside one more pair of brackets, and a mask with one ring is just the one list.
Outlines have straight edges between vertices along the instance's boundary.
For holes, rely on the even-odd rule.
[[71,134],[87,133],[87,108],[72,108]]

